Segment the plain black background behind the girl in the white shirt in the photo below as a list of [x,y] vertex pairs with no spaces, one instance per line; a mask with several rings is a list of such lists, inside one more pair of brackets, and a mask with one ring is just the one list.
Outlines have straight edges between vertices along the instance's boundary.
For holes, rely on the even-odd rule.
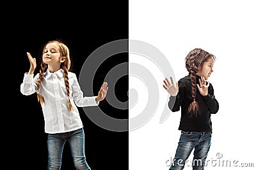
[[[47,143],[44,117],[35,95],[20,93],[24,73],[29,70],[26,52],[38,61],[47,41],[61,39],[70,49],[71,71],[79,76],[86,57],[100,46],[128,39],[128,1],[36,1],[12,2],[2,6],[2,126],[5,169],[47,169]],[[104,75],[123,62],[120,53],[102,63],[93,80],[96,96]],[[35,73],[38,73],[38,66]],[[128,76],[115,85],[116,97],[127,101]],[[84,94],[86,96],[86,94]],[[128,118],[128,110],[117,110],[106,100],[99,107],[115,118]],[[86,160],[92,170],[128,169],[128,132],[113,132],[95,125],[79,108],[85,131]],[[61,169],[75,169],[68,143],[63,150]]]

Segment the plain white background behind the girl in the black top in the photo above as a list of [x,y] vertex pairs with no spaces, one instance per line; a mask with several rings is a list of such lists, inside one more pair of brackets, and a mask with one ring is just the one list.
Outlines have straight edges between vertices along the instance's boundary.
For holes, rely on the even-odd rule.
[[[193,48],[203,48],[216,55],[209,81],[214,87],[220,110],[212,115],[212,145],[207,160],[255,161],[255,62],[256,6],[254,1],[170,1],[130,0],[129,39],[158,48],[170,62],[175,80],[186,76],[184,58]],[[168,100],[163,89],[164,76],[154,63],[140,55],[129,55],[129,62],[141,64],[159,83],[159,107],[140,128],[129,132],[129,169],[169,169],[180,131],[180,112],[170,113],[159,123]],[[130,117],[139,115],[147,104],[147,85],[129,77],[129,88],[138,91],[138,103]],[[221,153],[221,159],[216,154]],[[192,160],[193,153],[189,160]],[[253,169],[253,167],[218,166],[209,162],[205,169]],[[168,162],[167,162],[168,163]],[[214,166],[215,165],[215,166]],[[185,166],[184,169],[192,169]]]

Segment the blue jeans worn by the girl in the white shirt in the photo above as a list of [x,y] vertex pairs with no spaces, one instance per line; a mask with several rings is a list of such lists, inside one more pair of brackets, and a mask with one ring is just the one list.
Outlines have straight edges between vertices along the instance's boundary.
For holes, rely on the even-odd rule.
[[76,169],[89,170],[84,153],[84,129],[76,131],[48,134],[48,167],[47,169],[60,169],[63,147],[68,141]]

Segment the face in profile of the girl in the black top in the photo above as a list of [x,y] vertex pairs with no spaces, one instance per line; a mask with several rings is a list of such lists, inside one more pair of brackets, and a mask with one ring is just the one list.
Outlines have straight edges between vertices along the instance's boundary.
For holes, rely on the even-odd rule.
[[198,76],[203,76],[205,80],[208,80],[208,78],[211,76],[212,73],[212,67],[214,65],[214,59],[211,57],[207,61],[205,61],[198,70]]

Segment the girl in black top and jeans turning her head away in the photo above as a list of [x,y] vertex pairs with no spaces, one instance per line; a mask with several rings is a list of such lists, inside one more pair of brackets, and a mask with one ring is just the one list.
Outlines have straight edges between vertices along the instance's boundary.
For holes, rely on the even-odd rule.
[[167,78],[164,80],[163,87],[170,94],[170,110],[181,111],[181,134],[170,170],[184,169],[193,149],[193,169],[204,169],[211,146],[211,114],[219,110],[212,84],[207,81],[213,71],[215,60],[216,57],[211,53],[195,48],[185,58],[189,74],[176,83],[172,77],[171,81]]

